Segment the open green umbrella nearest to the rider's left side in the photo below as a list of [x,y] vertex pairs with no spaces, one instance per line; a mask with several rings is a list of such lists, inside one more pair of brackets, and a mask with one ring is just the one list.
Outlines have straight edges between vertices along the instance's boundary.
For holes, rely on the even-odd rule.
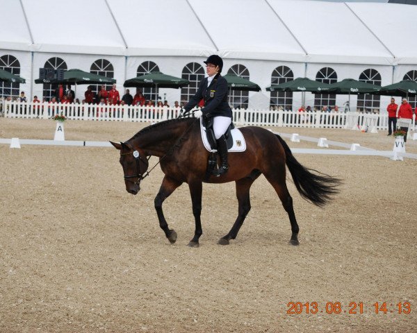
[[[189,85],[190,81],[185,78],[176,78],[161,73],[161,71],[152,71],[152,73],[136,76],[136,78],[129,78],[124,81],[123,87],[155,87],[156,91],[159,88],[181,88]],[[158,94],[155,97],[155,105],[158,103]]]

